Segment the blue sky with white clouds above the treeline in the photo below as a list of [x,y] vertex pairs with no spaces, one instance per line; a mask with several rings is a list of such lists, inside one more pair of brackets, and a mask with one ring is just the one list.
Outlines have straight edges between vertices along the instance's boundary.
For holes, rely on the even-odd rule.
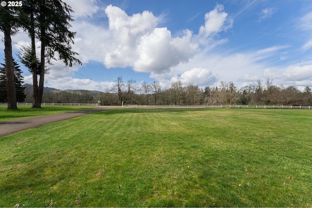
[[[45,87],[104,92],[120,76],[137,84],[156,80],[162,89],[176,81],[203,88],[233,82],[239,88],[267,78],[278,86],[312,87],[311,0],[64,2],[75,11],[72,47],[82,65],[55,61]],[[12,41],[15,57],[30,45],[23,31]],[[3,49],[2,41],[0,60]],[[31,84],[32,76],[21,69]]]

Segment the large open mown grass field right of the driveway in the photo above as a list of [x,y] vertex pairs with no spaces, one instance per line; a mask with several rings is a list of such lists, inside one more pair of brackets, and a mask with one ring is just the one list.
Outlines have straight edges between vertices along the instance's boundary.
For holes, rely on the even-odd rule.
[[0,207],[312,207],[312,111],[120,108],[0,138]]

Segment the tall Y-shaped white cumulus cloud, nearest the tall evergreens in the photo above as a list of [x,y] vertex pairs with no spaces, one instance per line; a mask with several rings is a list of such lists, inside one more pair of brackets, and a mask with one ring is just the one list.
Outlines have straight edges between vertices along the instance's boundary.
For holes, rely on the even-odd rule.
[[136,48],[142,35],[150,34],[157,25],[157,17],[149,11],[129,17],[122,9],[109,5],[105,9],[109,19],[111,51],[106,52],[107,68],[133,66],[137,59]]

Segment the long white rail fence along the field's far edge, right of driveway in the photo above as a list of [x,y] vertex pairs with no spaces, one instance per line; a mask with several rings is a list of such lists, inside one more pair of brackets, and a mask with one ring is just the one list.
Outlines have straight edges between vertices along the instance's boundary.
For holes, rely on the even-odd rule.
[[299,108],[312,109],[303,105],[122,105],[135,108]]

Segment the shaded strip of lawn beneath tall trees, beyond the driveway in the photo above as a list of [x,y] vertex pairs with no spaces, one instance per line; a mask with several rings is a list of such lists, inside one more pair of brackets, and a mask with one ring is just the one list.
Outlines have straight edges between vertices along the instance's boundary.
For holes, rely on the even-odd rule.
[[17,110],[8,110],[6,105],[0,105],[0,121],[22,119],[25,117],[42,116],[56,113],[65,113],[95,107],[42,105],[41,108],[31,108],[31,105],[19,105],[18,108],[19,109]]

